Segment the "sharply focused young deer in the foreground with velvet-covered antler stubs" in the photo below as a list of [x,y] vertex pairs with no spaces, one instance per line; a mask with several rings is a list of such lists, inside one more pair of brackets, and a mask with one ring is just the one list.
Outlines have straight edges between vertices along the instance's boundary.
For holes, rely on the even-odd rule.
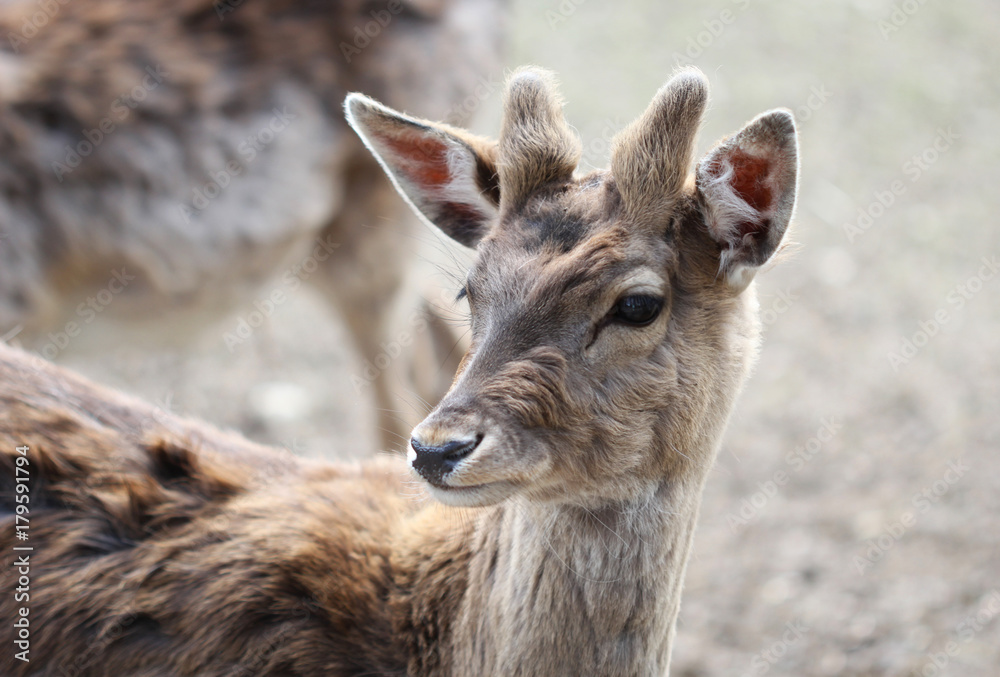
[[545,72],[512,77],[497,143],[348,98],[401,192],[478,250],[472,347],[411,439],[423,489],[402,459],[271,471],[266,450],[0,350],[0,481],[13,510],[26,445],[35,548],[33,662],[3,670],[665,674],[757,347],[751,283],[796,191],[780,110],[689,177],[706,98],[675,76],[582,177]]

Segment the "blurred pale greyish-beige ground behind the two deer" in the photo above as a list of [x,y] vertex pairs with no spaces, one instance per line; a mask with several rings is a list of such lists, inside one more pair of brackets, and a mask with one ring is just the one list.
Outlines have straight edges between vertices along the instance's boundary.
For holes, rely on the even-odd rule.
[[[764,347],[709,478],[673,673],[1000,675],[995,3],[514,12],[508,64],[559,73],[585,167],[680,62],[712,83],[702,150],[768,108],[799,120],[799,247],[759,278]],[[479,131],[496,129],[501,77],[484,81]],[[430,264],[461,275],[440,246],[414,240],[414,280],[453,291]],[[62,362],[304,455],[370,455],[364,365],[327,307],[302,289],[227,349],[252,310],[183,351]]]

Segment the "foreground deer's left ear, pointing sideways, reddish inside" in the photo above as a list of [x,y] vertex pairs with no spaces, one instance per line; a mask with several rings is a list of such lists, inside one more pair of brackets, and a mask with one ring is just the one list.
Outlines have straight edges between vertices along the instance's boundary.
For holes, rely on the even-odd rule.
[[348,95],[344,109],[414,210],[452,239],[475,247],[500,204],[496,143],[398,113],[361,94]]

